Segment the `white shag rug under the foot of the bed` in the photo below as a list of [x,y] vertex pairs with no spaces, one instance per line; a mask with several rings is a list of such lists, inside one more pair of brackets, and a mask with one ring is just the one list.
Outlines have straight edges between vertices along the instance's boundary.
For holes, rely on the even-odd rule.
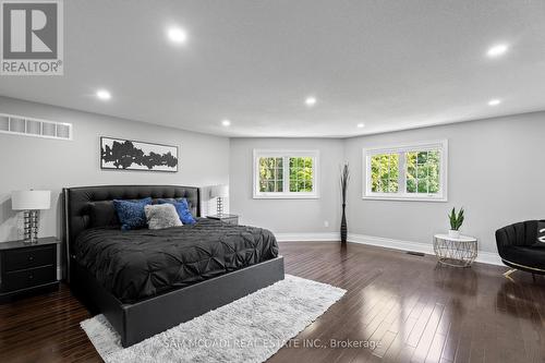
[[104,315],[81,326],[107,363],[264,362],[344,293],[286,275],[275,285],[125,349]]

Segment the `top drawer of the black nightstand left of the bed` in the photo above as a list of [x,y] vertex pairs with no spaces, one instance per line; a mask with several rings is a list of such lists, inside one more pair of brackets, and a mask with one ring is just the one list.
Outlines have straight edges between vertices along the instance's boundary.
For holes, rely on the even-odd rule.
[[57,261],[56,245],[44,247],[17,249],[4,252],[5,271],[55,265]]

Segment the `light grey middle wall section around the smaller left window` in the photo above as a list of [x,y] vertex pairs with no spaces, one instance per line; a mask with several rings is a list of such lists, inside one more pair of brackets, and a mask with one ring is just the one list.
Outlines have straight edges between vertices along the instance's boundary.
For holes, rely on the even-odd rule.
[[[318,149],[319,198],[254,199],[254,148]],[[340,223],[339,166],[342,160],[342,140],[231,138],[231,211],[241,215],[242,223],[268,228],[276,233],[337,232]],[[324,226],[325,221],[329,227]]]

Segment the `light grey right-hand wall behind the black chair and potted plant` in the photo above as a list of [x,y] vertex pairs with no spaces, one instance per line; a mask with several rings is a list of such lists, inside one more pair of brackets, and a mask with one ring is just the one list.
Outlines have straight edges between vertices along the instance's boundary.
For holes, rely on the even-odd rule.
[[[362,199],[362,148],[448,138],[448,202]],[[432,243],[449,229],[452,206],[467,211],[462,232],[496,252],[494,233],[508,223],[545,218],[545,112],[346,140],[352,167],[349,231]]]

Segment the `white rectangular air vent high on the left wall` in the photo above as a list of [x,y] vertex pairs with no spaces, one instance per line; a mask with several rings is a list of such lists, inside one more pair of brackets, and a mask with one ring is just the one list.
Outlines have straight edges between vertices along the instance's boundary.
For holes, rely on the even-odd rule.
[[72,140],[72,124],[0,113],[0,133]]

